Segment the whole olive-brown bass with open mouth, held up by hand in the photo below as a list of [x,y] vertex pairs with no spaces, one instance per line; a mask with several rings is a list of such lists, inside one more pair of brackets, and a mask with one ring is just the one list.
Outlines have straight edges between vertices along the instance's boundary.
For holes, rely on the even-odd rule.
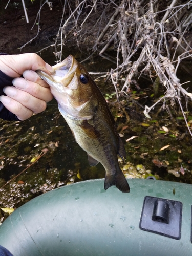
[[124,144],[99,87],[72,55],[53,68],[53,75],[41,70],[36,73],[49,84],[75,141],[87,152],[89,164],[95,166],[100,162],[105,168],[104,189],[115,185],[129,193],[129,184],[118,162],[118,155],[123,161],[126,157]]

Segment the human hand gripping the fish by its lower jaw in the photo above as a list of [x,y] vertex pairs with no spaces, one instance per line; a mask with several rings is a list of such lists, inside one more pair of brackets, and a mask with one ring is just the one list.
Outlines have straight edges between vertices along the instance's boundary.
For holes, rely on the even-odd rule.
[[[4,87],[7,96],[0,96],[0,101],[6,109],[15,114],[19,120],[26,120],[33,113],[46,109],[46,102],[53,96],[48,84],[41,80],[35,70],[53,74],[54,69],[37,54],[26,53],[19,55],[0,55],[0,69],[13,79],[12,86]],[[23,74],[24,78],[20,75]]]

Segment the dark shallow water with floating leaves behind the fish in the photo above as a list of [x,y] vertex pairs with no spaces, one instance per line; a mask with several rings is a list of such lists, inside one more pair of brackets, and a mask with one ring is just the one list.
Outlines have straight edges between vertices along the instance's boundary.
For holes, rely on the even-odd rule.
[[[75,56],[74,52],[72,54]],[[49,52],[41,57],[51,65],[55,64],[55,58]],[[82,57],[77,55],[77,59]],[[90,72],[103,72],[112,68],[111,62],[95,56],[89,63],[83,62],[83,65]],[[103,81],[101,83],[104,96],[114,91],[112,85]],[[146,86],[142,88],[142,84]],[[143,80],[140,85],[141,90],[134,92],[131,97],[139,98],[140,104],[149,104],[150,97],[147,94],[152,84]],[[125,176],[146,178],[151,175],[164,180],[191,183],[191,137],[184,120],[176,119],[181,113],[177,110],[175,114],[172,113],[174,121],[170,120],[166,111],[152,113],[150,120],[144,117],[143,110],[135,108],[131,100],[126,99],[121,103],[123,107],[120,110],[115,96],[112,96],[110,108],[127,152],[126,162],[120,162]],[[159,132],[163,131],[164,126],[168,127],[168,131]],[[132,136],[137,137],[125,142]],[[105,176],[101,164],[95,167],[88,164],[87,153],[75,142],[54,99],[47,104],[46,111],[24,122],[1,121],[0,137],[0,187],[31,165],[31,160],[39,156],[41,150],[48,150],[23,174],[0,189],[1,207],[17,208],[53,188]],[[169,147],[160,151],[165,145]],[[181,170],[185,174],[181,175]]]

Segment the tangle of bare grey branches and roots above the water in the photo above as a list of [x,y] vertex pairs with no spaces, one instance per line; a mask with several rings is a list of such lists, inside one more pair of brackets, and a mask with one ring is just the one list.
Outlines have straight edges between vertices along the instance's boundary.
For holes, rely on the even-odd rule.
[[[41,2],[35,20],[38,32],[29,42],[40,33],[40,13],[45,4],[54,9],[54,1]],[[164,0],[64,0],[61,4],[56,38],[44,49],[52,47],[57,61],[61,61],[65,45],[75,41],[79,51],[86,50],[87,58],[97,53],[115,62],[116,68],[106,75],[114,85],[117,99],[129,98],[133,86],[139,90],[138,79],[144,76],[154,87],[152,105],[143,106],[145,116],[150,118],[149,112],[159,103],[168,112],[179,105],[192,135],[183,110],[183,100],[187,111],[192,93],[184,89],[177,76],[183,60],[191,59],[188,33],[192,0],[166,4]],[[163,96],[157,98],[159,91],[163,91]]]

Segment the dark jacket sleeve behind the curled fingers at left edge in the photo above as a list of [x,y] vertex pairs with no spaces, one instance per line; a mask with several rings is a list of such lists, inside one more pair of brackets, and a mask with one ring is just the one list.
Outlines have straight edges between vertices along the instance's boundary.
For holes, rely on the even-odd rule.
[[[7,76],[0,70],[0,95],[5,95],[3,88],[5,86],[12,86],[12,81],[12,77]],[[15,114],[5,108],[2,102],[0,102],[0,118],[8,121],[20,121]]]

